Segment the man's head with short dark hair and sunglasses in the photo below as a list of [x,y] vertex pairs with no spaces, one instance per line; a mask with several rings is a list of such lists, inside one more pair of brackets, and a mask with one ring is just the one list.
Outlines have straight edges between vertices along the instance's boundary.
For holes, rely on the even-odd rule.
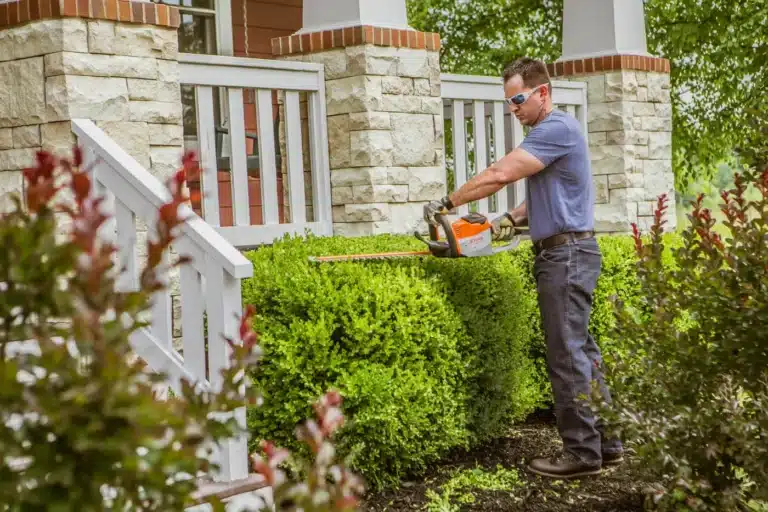
[[504,97],[520,124],[539,122],[552,110],[552,82],[546,64],[527,57],[509,64],[504,68]]

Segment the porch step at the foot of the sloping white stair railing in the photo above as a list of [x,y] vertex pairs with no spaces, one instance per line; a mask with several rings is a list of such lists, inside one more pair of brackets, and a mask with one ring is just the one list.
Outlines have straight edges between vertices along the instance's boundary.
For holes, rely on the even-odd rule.
[[197,492],[193,494],[195,505],[185,512],[207,512],[212,510],[210,505],[214,499],[220,499],[226,503],[227,512],[256,510],[257,506],[266,501],[272,507],[271,488],[264,481],[264,477],[253,473],[242,480],[233,482],[212,482],[204,480],[199,483]]

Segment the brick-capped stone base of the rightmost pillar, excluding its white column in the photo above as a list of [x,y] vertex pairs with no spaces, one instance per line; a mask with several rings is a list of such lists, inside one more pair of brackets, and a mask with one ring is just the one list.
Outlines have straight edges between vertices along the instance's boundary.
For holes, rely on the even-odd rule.
[[653,222],[656,200],[668,194],[667,227],[676,224],[672,171],[669,61],[609,56],[549,65],[555,80],[587,84],[595,228],[626,233]]

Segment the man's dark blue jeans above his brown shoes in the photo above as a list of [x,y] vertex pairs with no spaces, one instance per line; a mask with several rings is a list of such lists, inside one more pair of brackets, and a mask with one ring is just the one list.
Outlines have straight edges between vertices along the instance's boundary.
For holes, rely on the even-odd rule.
[[622,451],[621,442],[606,439],[600,420],[577,403],[582,394],[590,395],[593,380],[605,400],[611,400],[600,348],[588,330],[601,263],[594,237],[545,249],[534,262],[557,428],[564,449],[587,464],[600,463],[604,453]]

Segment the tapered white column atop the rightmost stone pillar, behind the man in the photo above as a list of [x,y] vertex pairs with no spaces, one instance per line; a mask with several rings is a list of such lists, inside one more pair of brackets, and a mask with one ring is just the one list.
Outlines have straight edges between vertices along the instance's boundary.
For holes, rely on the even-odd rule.
[[562,51],[559,61],[604,55],[650,57],[643,0],[565,0]]

